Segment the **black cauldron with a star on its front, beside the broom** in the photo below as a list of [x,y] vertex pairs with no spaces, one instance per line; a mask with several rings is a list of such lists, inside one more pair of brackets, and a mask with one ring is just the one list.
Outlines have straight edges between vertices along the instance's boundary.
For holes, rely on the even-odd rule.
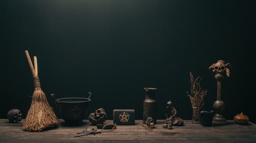
[[[89,92],[91,96],[91,92]],[[51,94],[54,97],[54,94]],[[58,106],[62,119],[67,125],[81,125],[82,120],[87,117],[88,103],[91,101],[88,98],[60,98],[54,100]]]

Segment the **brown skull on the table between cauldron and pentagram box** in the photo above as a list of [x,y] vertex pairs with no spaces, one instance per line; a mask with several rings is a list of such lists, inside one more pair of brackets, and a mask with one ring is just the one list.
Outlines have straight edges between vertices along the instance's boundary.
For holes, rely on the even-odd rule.
[[103,124],[107,119],[107,114],[103,108],[98,108],[95,113],[91,113],[89,120],[92,125]]

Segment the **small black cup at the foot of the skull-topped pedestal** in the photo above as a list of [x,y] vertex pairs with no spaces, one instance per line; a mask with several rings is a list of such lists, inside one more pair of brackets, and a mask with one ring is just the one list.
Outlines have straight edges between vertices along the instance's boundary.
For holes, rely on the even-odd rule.
[[214,117],[213,110],[204,110],[200,112],[200,124],[203,126],[211,126],[212,118]]

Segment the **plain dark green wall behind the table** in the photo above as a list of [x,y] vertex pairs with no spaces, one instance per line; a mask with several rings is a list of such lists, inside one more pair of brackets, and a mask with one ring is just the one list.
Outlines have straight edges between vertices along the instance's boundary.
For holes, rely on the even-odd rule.
[[[135,109],[142,119],[144,87],[158,88],[158,119],[166,101],[191,119],[190,76],[208,89],[205,109],[217,100],[218,60],[231,63],[224,81],[224,115],[255,116],[256,1],[0,1],[0,117],[18,108],[23,118],[33,94],[24,51],[38,57],[42,90],[60,117],[57,98],[87,97],[89,113]],[[255,51],[255,50],[254,50]]]

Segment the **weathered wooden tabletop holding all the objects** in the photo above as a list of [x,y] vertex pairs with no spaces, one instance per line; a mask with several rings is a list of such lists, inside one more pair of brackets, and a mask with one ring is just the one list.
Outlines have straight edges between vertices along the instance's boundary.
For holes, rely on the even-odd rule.
[[[112,122],[107,120],[105,123]],[[84,120],[82,126],[66,126],[61,120],[57,129],[25,132],[21,127],[23,121],[9,123],[7,119],[0,119],[0,142],[256,142],[256,125],[253,123],[236,125],[229,121],[229,125],[205,127],[184,120],[184,126],[172,126],[170,130],[161,128],[161,120],[153,130],[146,130],[140,123],[141,120],[136,120],[133,126],[118,125],[112,132],[75,138],[77,132],[96,127],[88,120]]]

